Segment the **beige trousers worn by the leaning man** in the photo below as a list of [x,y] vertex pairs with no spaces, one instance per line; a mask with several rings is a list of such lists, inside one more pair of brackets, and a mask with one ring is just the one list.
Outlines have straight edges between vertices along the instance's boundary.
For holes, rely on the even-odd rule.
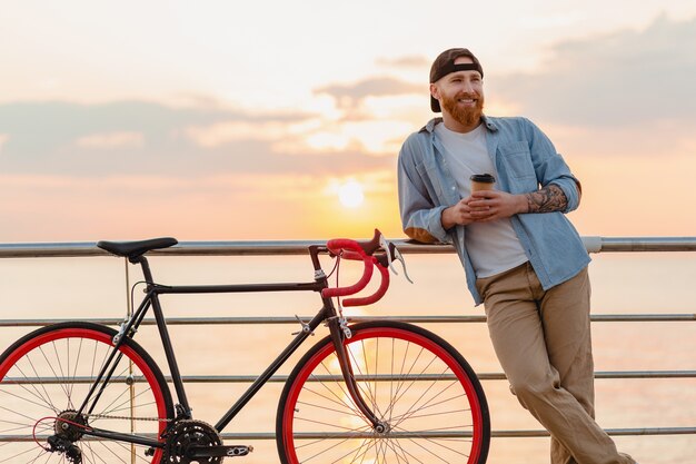
[[551,434],[551,463],[634,464],[594,419],[587,268],[546,292],[529,263],[476,286],[513,393]]

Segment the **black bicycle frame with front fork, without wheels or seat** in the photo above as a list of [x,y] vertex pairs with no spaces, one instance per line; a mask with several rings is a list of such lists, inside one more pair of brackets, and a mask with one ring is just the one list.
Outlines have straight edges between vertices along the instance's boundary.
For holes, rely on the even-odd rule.
[[[266,292],[318,292],[319,294],[321,294],[322,289],[328,288],[328,277],[321,268],[318,255],[320,253],[326,253],[327,250],[328,249],[324,246],[309,247],[310,257],[315,267],[315,282],[311,283],[165,286],[155,283],[149,263],[145,256],[140,256],[137,259],[131,260],[131,263],[133,264],[140,264],[142,268],[142,274],[147,283],[146,296],[143,297],[142,303],[140,304],[138,309],[127,322],[121,325],[118,335],[115,336],[115,348],[111,352],[108,361],[105,363],[101,372],[97,376],[97,379],[92,384],[87,397],[84,398],[82,405],[79,407],[77,414],[82,414],[88,407],[90,401],[92,402],[92,406],[87,413],[89,414],[93,409],[97,402],[99,401],[101,389],[103,389],[103,387],[107,385],[113,374],[115,367],[112,367],[110,372],[108,371],[110,365],[113,364],[113,366],[116,366],[116,363],[112,363],[112,361],[117,356],[120,356],[118,351],[119,347],[125,343],[126,337],[132,337],[132,335],[135,335],[138,327],[142,323],[145,315],[151,307],[178,398],[177,418],[191,418],[191,407],[186,396],[183,381],[181,379],[181,374],[179,372],[171,339],[169,337],[169,330],[165,320],[162,306],[159,302],[159,295]],[[218,423],[215,425],[215,428],[216,431],[218,431],[218,433],[221,432],[235,418],[235,416],[245,407],[245,405],[259,392],[259,389],[285,364],[285,362],[288,361],[288,358],[297,351],[297,348],[299,348],[299,346],[307,339],[307,337],[309,337],[309,335],[314,333],[314,330],[322,322],[327,322],[327,325],[329,327],[329,333],[336,347],[338,359],[340,362],[341,373],[346,382],[348,392],[352,396],[354,402],[356,403],[360,412],[365,414],[368,421],[370,421],[377,430],[381,426],[381,423],[378,421],[374,412],[369,408],[369,406],[362,398],[362,395],[360,394],[356,384],[350,361],[348,358],[348,355],[346,354],[342,343],[344,337],[346,336],[344,333],[344,327],[341,326],[342,322],[339,319],[339,315],[336,310],[336,307],[334,306],[334,302],[330,297],[322,296],[321,299],[324,305],[314,316],[314,318],[308,323],[304,323],[300,320],[302,329],[266,368],[266,371],[264,371],[264,373],[261,373],[257,377],[257,379],[247,388],[247,391],[236,401],[236,403],[229,408],[229,411],[218,421]],[[101,389],[99,389],[100,385]],[[162,444],[156,438],[151,440],[143,436],[121,434],[105,430],[84,430],[83,434],[153,447],[162,446]]]

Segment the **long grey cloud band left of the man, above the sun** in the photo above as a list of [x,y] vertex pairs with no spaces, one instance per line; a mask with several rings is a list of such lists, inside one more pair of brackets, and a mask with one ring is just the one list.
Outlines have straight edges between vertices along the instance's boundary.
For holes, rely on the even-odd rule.
[[6,103],[0,105],[0,169],[82,177],[300,175],[384,168],[391,161],[369,156],[360,144],[324,151],[309,146],[312,136],[330,131],[327,124],[312,113],[250,113],[202,101]]

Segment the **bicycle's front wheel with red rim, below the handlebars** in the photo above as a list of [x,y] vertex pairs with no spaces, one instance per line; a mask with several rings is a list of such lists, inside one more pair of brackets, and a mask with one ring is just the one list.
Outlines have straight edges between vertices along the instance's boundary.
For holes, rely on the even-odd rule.
[[386,431],[375,431],[351,399],[326,337],[295,367],[278,406],[285,464],[486,462],[486,397],[451,345],[404,323],[362,323],[351,330],[345,345],[358,389]]

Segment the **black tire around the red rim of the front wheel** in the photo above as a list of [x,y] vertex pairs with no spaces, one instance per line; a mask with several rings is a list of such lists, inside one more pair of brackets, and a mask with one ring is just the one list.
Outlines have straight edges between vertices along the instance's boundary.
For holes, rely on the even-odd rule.
[[[481,419],[481,431],[480,431],[481,432],[481,446],[480,446],[479,456],[476,461],[476,464],[485,464],[487,461],[488,452],[490,447],[490,416],[489,416],[489,411],[488,411],[488,403],[486,401],[486,395],[478,379],[478,376],[476,375],[476,373],[474,372],[469,363],[466,361],[466,358],[454,346],[451,346],[451,344],[449,344],[447,340],[445,340],[437,334],[430,330],[427,330],[422,327],[412,325],[412,324],[402,323],[402,322],[372,320],[372,322],[365,322],[365,323],[359,323],[359,324],[355,324],[350,326],[354,334],[358,334],[360,330],[364,330],[366,328],[380,328],[380,327],[396,328],[396,329],[401,329],[401,330],[418,334],[429,339],[430,342],[435,343],[441,349],[446,351],[456,361],[456,363],[461,367],[468,382],[474,388],[476,401],[479,405],[479,413],[480,413],[480,419]],[[276,415],[276,444],[277,444],[280,461],[284,464],[294,464],[292,462],[288,460],[286,455],[285,443],[284,443],[285,423],[286,423],[286,417],[284,415],[285,415],[289,393],[292,391],[292,388],[295,388],[294,384],[297,382],[297,377],[300,374],[300,372],[305,368],[305,366],[310,362],[310,359],[318,352],[322,351],[327,346],[327,344],[332,344],[330,336],[327,336],[320,339],[319,342],[317,342],[302,356],[302,358],[297,363],[297,365],[295,366],[295,368],[288,376],[282,394],[280,396],[280,399],[278,403],[277,415]]]

